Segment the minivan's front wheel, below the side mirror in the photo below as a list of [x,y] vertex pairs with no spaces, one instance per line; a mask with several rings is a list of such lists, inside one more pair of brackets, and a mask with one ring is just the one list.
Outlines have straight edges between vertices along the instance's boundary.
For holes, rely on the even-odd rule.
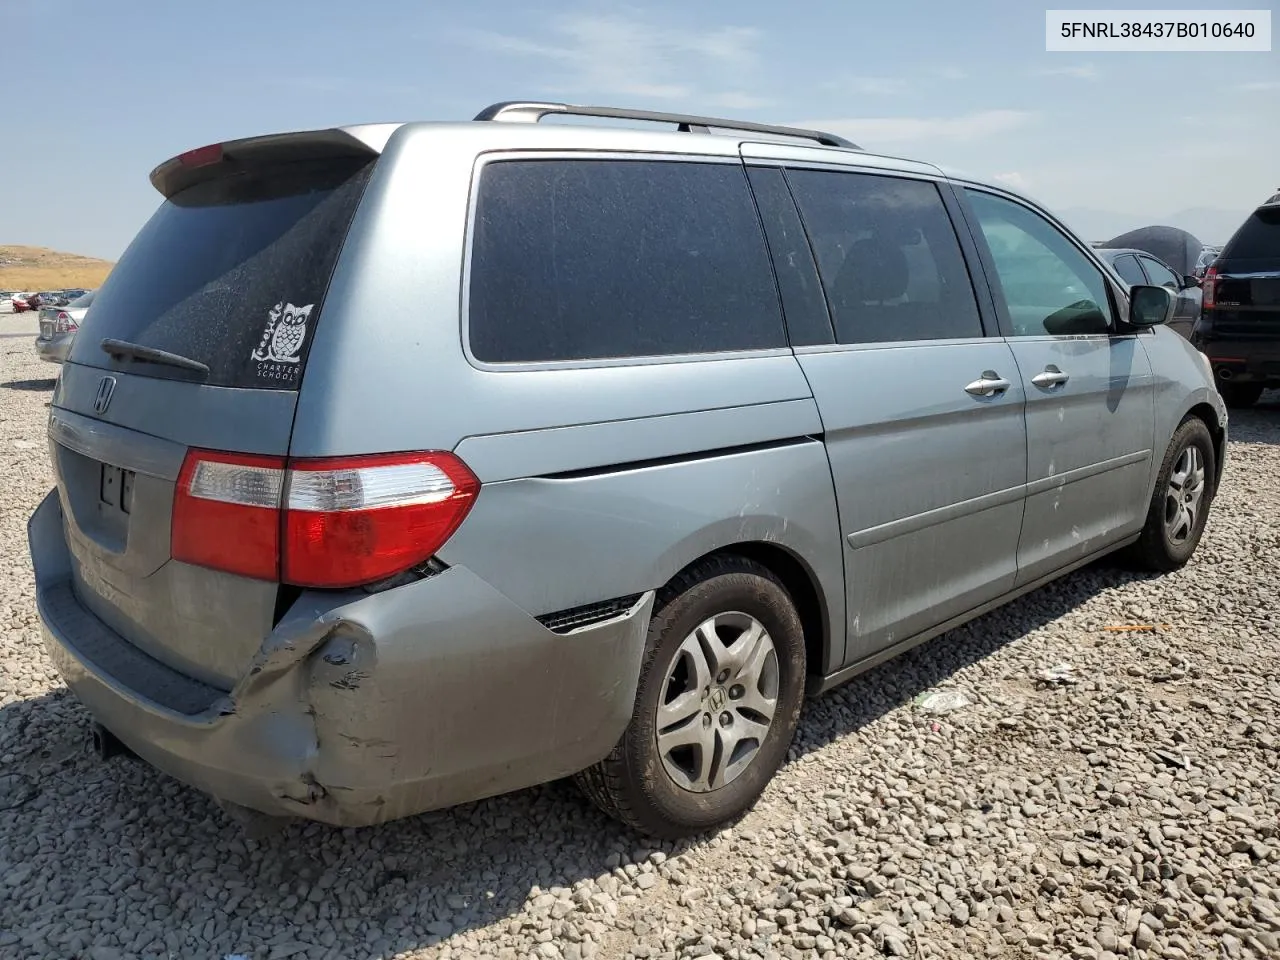
[[1192,558],[1217,493],[1216,477],[1213,438],[1203,420],[1188,417],[1165,452],[1142,535],[1126,552],[1132,566],[1170,572]]

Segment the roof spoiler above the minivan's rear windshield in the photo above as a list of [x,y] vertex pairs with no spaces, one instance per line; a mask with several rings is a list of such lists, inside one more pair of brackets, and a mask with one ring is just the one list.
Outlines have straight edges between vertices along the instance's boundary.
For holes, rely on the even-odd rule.
[[396,123],[334,127],[210,143],[165,160],[151,172],[151,186],[168,200],[196,183],[223,177],[241,164],[376,156],[397,127]]

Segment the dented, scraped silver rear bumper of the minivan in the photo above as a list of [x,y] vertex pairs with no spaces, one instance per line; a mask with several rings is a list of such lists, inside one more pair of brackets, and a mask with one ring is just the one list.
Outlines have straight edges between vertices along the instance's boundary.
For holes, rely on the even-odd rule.
[[653,594],[556,634],[452,567],[381,594],[307,593],[227,692],[74,596],[56,492],[28,522],[45,645],[143,760],[268,814],[364,826],[575,773],[622,735]]

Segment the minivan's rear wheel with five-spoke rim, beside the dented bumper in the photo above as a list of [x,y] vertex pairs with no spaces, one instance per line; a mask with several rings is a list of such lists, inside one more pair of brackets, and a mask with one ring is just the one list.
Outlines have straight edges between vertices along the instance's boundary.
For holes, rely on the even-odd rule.
[[782,764],[804,677],[804,630],[781,581],[742,557],[701,561],[659,594],[631,723],[576,781],[650,836],[728,823]]

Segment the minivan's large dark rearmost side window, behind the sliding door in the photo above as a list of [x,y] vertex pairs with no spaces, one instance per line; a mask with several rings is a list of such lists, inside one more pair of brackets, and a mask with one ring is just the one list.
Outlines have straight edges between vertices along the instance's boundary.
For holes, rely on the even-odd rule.
[[746,175],[728,164],[489,164],[470,307],[484,361],[786,346]]

